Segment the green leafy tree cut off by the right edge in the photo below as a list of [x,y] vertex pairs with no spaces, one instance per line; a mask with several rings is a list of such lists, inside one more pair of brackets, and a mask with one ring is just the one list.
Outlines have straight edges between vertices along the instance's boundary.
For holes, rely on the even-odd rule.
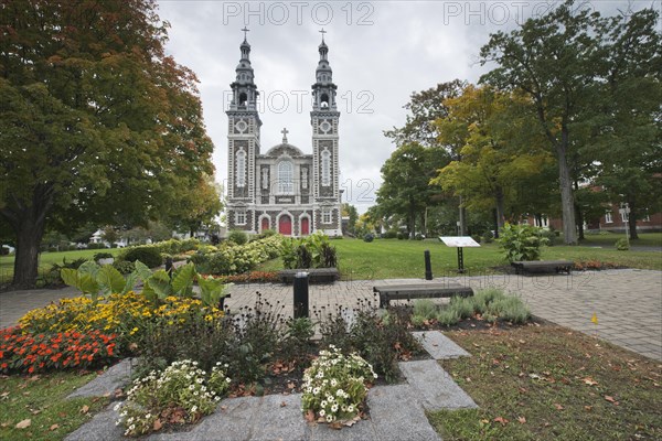
[[600,160],[597,182],[613,202],[630,208],[629,228],[662,201],[662,33],[652,9],[615,18],[600,84],[599,128],[592,153]]

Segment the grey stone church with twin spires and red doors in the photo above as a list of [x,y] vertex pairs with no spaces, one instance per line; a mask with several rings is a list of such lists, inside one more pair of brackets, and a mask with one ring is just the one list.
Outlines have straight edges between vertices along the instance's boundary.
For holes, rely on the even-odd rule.
[[340,112],[333,84],[329,47],[319,46],[320,60],[312,85],[310,111],[312,153],[282,140],[264,153],[258,90],[250,65],[250,45],[244,36],[242,55],[231,84],[232,101],[227,127],[227,227],[259,234],[266,229],[286,236],[323,232],[342,235],[339,175]]

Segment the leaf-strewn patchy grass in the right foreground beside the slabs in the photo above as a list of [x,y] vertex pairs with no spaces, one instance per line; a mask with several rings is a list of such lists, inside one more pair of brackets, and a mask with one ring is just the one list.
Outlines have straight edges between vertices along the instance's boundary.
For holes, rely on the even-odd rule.
[[479,406],[428,412],[444,440],[660,440],[660,364],[560,326],[449,332]]

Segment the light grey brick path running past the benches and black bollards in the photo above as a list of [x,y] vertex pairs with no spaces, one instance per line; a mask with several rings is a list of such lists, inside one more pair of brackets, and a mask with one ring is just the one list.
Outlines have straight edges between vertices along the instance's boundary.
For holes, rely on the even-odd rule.
[[[662,361],[662,272],[652,270],[609,270],[574,272],[572,276],[479,276],[449,277],[440,280],[469,284],[474,289],[501,287],[521,295],[533,314],[557,324],[595,335]],[[335,311],[339,305],[361,302],[376,305],[374,284],[419,282],[418,279],[343,281],[310,287],[310,309]],[[282,304],[291,314],[292,288],[279,284],[244,284],[231,289],[226,304],[232,310],[255,303],[256,291],[274,304]],[[0,293],[0,327],[15,324],[33,308],[61,297],[73,297],[73,289]],[[277,303],[278,302],[278,303]],[[590,319],[596,313],[598,325]]]

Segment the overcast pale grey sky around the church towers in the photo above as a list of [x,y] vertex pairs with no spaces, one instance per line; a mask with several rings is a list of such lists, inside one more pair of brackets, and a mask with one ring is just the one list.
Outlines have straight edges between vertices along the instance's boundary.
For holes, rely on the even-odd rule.
[[[216,180],[227,179],[229,84],[247,26],[255,83],[260,90],[261,152],[288,140],[312,152],[310,86],[327,31],[338,85],[343,202],[364,212],[374,204],[380,169],[395,147],[383,131],[405,122],[413,92],[455,78],[476,83],[493,66],[477,63],[489,34],[544,13],[545,1],[174,1],[160,0],[171,24],[167,51],[197,75]],[[660,1],[633,1],[633,9]],[[628,1],[594,1],[601,12]]]

